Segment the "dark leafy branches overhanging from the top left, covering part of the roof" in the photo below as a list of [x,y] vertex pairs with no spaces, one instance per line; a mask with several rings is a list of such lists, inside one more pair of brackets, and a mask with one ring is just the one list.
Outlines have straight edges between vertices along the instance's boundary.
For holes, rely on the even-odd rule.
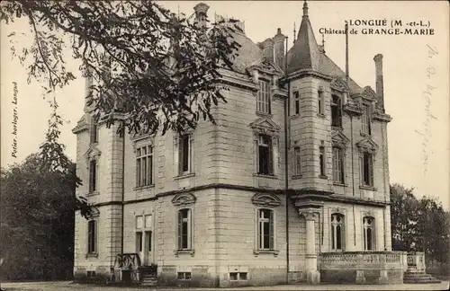
[[237,55],[237,27],[212,23],[207,31],[193,17],[148,0],[24,0],[0,8],[6,23],[30,22],[33,45],[13,51],[22,63],[32,57],[29,79],[47,82],[49,93],[69,84],[75,76],[62,54],[68,46],[83,75],[94,79],[92,105],[109,125],[120,110],[130,132],[183,131],[201,118],[213,121],[211,104],[225,101],[215,81]]

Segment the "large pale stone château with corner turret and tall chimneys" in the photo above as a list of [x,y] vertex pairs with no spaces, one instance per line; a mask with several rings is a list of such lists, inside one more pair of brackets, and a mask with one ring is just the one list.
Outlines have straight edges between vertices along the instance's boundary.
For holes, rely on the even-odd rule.
[[[211,109],[216,124],[120,137],[85,106],[73,129],[77,194],[98,211],[76,216],[76,279],[119,280],[117,257],[130,254],[130,269],[155,264],[165,285],[402,280],[383,56],[376,88],[356,84],[318,44],[308,9],[289,49],[280,29],[255,43],[238,23],[242,47],[218,80],[229,91]],[[202,22],[208,6],[194,10]]]

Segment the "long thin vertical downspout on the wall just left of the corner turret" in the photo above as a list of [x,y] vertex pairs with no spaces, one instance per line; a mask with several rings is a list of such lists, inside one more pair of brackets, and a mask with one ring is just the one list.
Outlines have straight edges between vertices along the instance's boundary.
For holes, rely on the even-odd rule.
[[288,168],[288,119],[290,112],[290,96],[291,96],[291,82],[287,75],[287,44],[288,37],[286,37],[286,54],[284,57],[284,77],[287,81],[287,97],[284,98],[284,197],[286,199],[286,284],[289,284],[289,168]]

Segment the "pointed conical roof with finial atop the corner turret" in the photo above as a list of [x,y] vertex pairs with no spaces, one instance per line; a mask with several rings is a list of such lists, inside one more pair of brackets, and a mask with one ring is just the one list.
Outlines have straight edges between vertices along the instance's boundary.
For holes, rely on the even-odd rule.
[[304,69],[319,71],[320,49],[312,31],[306,1],[303,4],[302,23],[300,24],[297,40],[295,40],[290,54],[288,53],[287,62],[287,73]]

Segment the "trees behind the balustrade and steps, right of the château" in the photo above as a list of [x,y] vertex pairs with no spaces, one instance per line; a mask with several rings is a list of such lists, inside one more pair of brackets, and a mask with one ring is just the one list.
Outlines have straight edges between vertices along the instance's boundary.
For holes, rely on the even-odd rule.
[[413,190],[391,186],[392,248],[425,251],[428,259],[448,263],[450,213],[436,198],[418,199]]

